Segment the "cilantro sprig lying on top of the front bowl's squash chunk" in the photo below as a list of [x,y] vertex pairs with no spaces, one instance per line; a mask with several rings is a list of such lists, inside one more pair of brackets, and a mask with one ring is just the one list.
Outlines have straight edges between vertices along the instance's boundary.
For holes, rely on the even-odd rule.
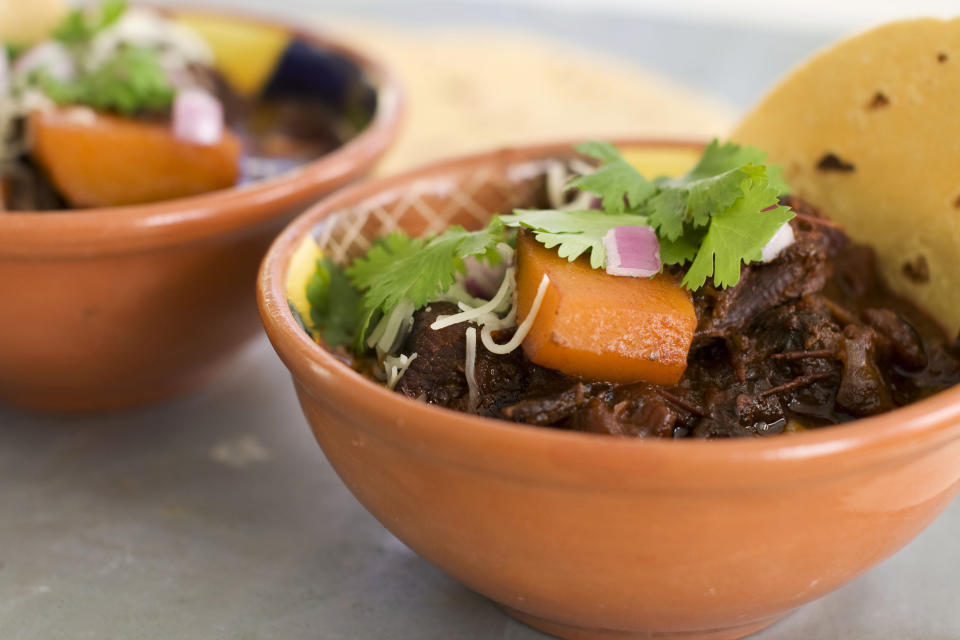
[[593,268],[603,268],[603,237],[613,227],[651,226],[660,240],[664,264],[692,262],[683,279],[688,289],[712,277],[718,287],[740,281],[743,263],[760,260],[761,250],[793,213],[779,206],[786,191],[780,170],[764,164],[759,149],[714,140],[693,169],[678,178],[648,180],[605,142],[577,150],[601,162],[570,186],[600,198],[600,211],[515,211],[501,220],[525,227],[547,248],[574,260],[590,252]]

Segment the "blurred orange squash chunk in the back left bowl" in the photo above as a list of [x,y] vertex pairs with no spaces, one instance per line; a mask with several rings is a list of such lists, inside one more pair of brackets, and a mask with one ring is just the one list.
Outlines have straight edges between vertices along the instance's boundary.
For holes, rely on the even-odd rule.
[[33,157],[75,207],[111,207],[197,195],[236,184],[240,140],[215,145],[174,137],[169,123],[88,110],[30,116]]

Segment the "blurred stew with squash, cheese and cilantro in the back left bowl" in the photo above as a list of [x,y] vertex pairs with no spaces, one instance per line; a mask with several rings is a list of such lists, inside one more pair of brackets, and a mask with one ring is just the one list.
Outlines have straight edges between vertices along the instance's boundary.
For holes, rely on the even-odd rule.
[[[309,87],[271,81],[295,43],[236,24],[106,0],[67,13],[45,41],[0,47],[0,211],[197,195],[339,146],[345,118]],[[230,65],[222,49],[238,38],[257,64]]]

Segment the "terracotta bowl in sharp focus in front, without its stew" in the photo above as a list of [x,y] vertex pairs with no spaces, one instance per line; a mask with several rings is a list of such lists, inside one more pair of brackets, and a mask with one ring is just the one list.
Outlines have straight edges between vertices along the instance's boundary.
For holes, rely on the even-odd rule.
[[[641,147],[669,162],[683,152]],[[386,528],[557,636],[721,639],[850,581],[946,507],[960,489],[960,388],[799,434],[620,439],[411,400],[298,325],[286,278],[307,234],[343,259],[395,227],[476,226],[529,204],[542,160],[568,155],[567,145],[505,150],[341,191],[287,228],[264,261],[267,333],[330,463]]]

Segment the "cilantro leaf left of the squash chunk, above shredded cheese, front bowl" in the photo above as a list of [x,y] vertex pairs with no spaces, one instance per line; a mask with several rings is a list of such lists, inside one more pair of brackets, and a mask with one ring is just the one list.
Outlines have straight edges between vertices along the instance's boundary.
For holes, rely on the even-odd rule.
[[464,258],[499,261],[497,244],[503,240],[503,225],[496,220],[480,231],[453,226],[422,239],[396,231],[386,236],[347,269],[353,285],[364,292],[365,317],[359,337],[378,311],[389,313],[404,300],[414,309],[435,300],[464,271]]

